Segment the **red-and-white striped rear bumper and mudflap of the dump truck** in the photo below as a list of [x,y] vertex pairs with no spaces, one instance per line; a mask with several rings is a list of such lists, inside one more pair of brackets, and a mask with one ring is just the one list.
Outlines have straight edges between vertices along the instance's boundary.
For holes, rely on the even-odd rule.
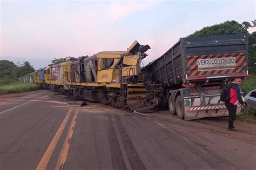
[[[237,107],[237,115],[241,114],[241,105]],[[211,106],[185,106],[185,120],[200,119],[206,117],[223,117],[228,116],[227,108],[224,104]]]

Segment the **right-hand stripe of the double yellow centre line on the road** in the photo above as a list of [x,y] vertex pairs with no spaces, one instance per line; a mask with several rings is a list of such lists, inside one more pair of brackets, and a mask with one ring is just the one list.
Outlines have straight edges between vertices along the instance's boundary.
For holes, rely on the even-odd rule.
[[79,108],[76,108],[75,114],[73,115],[73,119],[69,126],[69,132],[66,135],[64,144],[62,146],[62,151],[60,151],[58,162],[56,164],[56,170],[63,169],[64,163],[66,162],[66,157],[68,156],[70,140],[73,135],[73,131],[76,125],[77,115],[78,115]]

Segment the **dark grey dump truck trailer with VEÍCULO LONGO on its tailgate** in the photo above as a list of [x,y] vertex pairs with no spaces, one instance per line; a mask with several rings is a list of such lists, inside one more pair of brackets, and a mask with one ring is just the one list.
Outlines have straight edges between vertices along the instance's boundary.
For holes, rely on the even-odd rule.
[[[247,35],[180,38],[143,68],[163,85],[161,104],[171,114],[191,120],[228,115],[220,93],[233,78],[248,76]],[[237,114],[241,112],[238,105]]]

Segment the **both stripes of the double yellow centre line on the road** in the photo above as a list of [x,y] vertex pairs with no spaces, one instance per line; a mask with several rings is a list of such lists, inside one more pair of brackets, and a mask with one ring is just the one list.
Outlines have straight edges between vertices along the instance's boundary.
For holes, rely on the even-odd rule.
[[[46,149],[41,161],[37,165],[37,168],[36,168],[37,170],[45,169],[46,166],[48,165],[48,162],[51,158],[52,152],[54,151],[54,149],[55,149],[55,147],[56,147],[56,145],[59,141],[60,135],[62,135],[62,132],[63,132],[66,124],[68,123],[68,120],[69,120],[69,117],[70,117],[72,111],[73,111],[73,108],[70,108],[69,112],[66,114],[66,117],[64,118],[62,124],[59,126],[59,129],[58,129],[57,133],[53,137],[53,139],[52,139],[50,145],[48,146],[48,148]],[[72,118],[72,121],[71,121],[70,126],[69,126],[68,134],[66,135],[64,144],[62,146],[62,150],[60,151],[58,162],[56,164],[55,169],[62,169],[63,165],[66,161],[66,158],[68,156],[69,146],[70,146],[70,139],[73,135],[73,130],[74,130],[74,127],[76,125],[78,111],[79,111],[79,108],[76,108],[75,113],[74,113],[73,118]]]

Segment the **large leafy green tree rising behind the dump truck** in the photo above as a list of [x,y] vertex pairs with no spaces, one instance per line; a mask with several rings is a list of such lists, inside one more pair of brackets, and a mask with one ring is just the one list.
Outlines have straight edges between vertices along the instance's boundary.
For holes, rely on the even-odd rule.
[[249,33],[248,28],[256,26],[256,20],[250,22],[242,22],[239,24],[236,21],[226,21],[224,23],[206,26],[203,29],[194,32],[188,37],[204,37],[214,35],[231,35],[231,34],[247,34],[249,39],[249,72],[256,73],[256,32]]

